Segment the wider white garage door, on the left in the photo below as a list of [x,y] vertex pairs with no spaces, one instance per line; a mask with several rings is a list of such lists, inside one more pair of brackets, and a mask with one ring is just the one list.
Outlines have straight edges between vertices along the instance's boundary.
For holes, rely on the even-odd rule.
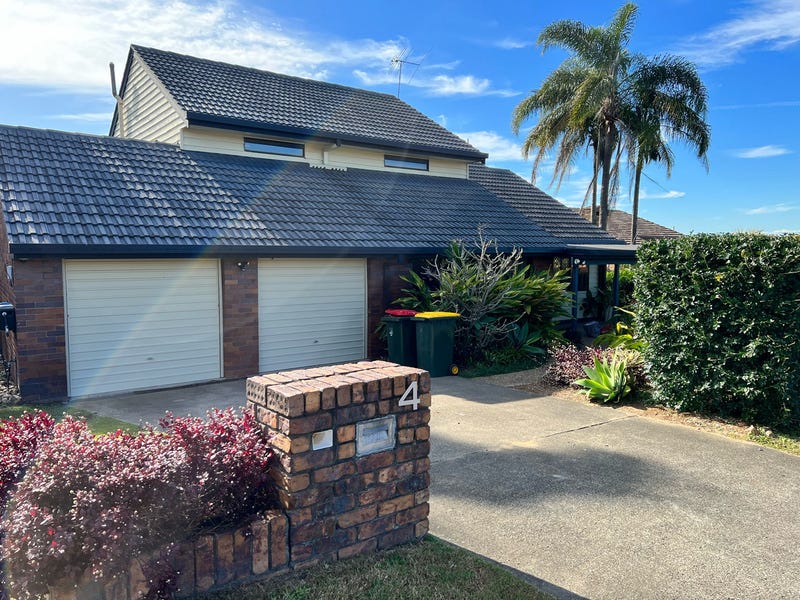
[[217,260],[66,260],[69,395],[221,377]]

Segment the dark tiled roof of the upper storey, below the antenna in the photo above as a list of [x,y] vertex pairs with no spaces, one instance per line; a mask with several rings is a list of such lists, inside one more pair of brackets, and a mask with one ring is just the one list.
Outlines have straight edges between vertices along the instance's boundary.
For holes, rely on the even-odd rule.
[[189,121],[252,126],[398,149],[486,155],[402,100],[322,81],[132,46]]

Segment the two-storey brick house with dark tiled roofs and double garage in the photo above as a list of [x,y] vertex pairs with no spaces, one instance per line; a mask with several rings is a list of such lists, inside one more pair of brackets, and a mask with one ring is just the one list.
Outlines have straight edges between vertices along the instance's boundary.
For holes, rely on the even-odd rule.
[[3,340],[26,400],[381,352],[398,276],[479,227],[632,252],[394,96],[132,46],[110,135],[0,127]]

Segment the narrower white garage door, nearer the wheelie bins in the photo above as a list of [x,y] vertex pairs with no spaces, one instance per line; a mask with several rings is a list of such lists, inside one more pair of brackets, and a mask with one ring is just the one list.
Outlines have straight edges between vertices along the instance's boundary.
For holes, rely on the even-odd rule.
[[366,282],[365,260],[260,260],[259,370],[363,359]]

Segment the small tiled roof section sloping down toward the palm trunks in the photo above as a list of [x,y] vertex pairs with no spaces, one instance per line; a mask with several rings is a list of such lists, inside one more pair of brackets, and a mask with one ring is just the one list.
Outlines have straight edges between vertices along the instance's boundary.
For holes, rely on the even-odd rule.
[[469,177],[567,244],[617,242],[572,209],[507,169],[470,165]]

